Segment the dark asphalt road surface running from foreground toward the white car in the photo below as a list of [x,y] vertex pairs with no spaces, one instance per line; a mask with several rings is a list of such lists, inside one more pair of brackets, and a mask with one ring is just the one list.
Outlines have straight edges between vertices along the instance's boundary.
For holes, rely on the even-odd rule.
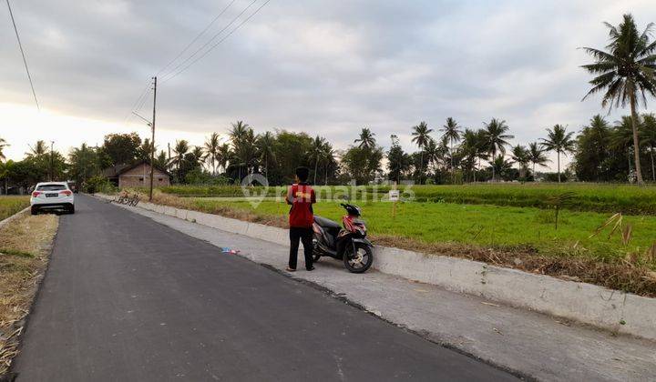
[[18,381],[515,379],[147,217],[76,203]]

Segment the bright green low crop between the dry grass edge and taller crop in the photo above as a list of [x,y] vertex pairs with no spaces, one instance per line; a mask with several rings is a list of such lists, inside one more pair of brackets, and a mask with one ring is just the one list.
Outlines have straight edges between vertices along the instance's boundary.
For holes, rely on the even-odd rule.
[[[246,201],[192,197],[194,209],[211,212],[220,207],[251,211],[259,216],[284,216],[289,207],[274,200],[257,206]],[[477,246],[526,246],[551,255],[591,256],[611,259],[630,252],[644,252],[656,243],[656,216],[623,216],[632,234],[624,245],[617,231],[610,236],[608,226],[600,235],[589,237],[611,214],[561,211],[559,227],[554,211],[534,207],[461,205],[451,203],[399,203],[396,216],[388,202],[359,203],[372,234],[405,236],[425,243],[458,243]],[[317,215],[340,221],[343,208],[335,202],[319,202]]]

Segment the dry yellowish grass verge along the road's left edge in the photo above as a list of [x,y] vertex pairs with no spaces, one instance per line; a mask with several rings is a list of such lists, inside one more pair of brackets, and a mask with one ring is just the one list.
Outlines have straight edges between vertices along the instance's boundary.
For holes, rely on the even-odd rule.
[[17,354],[57,225],[55,215],[24,215],[0,229],[0,380]]

